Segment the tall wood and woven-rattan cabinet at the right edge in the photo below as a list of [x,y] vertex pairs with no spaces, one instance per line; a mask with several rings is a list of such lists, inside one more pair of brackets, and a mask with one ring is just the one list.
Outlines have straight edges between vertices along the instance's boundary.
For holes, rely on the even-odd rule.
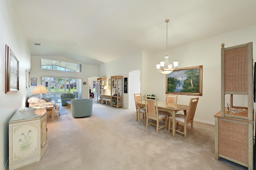
[[254,141],[252,42],[228,48],[224,48],[222,44],[221,111],[214,117],[215,159],[222,157],[252,170]]

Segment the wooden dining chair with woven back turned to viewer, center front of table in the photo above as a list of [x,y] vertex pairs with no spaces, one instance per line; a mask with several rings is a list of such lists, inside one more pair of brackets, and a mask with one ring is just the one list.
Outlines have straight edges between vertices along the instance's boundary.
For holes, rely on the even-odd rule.
[[[164,127],[167,129],[168,117],[166,114],[162,113],[162,111],[158,111],[157,97],[150,96],[150,98],[148,98],[148,96],[144,96],[144,98],[146,107],[146,128],[148,128],[148,125],[155,125],[156,133],[158,133],[159,129]],[[152,119],[153,121],[148,123],[148,119]],[[165,120],[165,125],[159,125],[159,121],[161,120]]]

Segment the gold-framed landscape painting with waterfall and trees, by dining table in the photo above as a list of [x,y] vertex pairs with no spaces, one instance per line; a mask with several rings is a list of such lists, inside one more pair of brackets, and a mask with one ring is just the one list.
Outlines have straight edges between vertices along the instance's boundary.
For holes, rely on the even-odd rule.
[[202,96],[203,66],[178,68],[166,74],[166,94]]

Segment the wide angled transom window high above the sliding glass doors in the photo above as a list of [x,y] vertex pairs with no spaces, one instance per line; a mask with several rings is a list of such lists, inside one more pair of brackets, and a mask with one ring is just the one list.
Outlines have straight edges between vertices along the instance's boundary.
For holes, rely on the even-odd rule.
[[40,62],[42,69],[82,72],[82,64],[67,63],[48,59],[40,59]]

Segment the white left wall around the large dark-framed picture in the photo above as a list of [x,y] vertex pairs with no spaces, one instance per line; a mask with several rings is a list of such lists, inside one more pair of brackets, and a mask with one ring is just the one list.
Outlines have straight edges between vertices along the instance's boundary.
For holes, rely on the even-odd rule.
[[[0,169],[8,168],[8,122],[19,107],[25,107],[29,95],[26,70],[30,70],[30,51],[22,23],[12,1],[0,0]],[[5,45],[19,61],[19,91],[5,94]]]

